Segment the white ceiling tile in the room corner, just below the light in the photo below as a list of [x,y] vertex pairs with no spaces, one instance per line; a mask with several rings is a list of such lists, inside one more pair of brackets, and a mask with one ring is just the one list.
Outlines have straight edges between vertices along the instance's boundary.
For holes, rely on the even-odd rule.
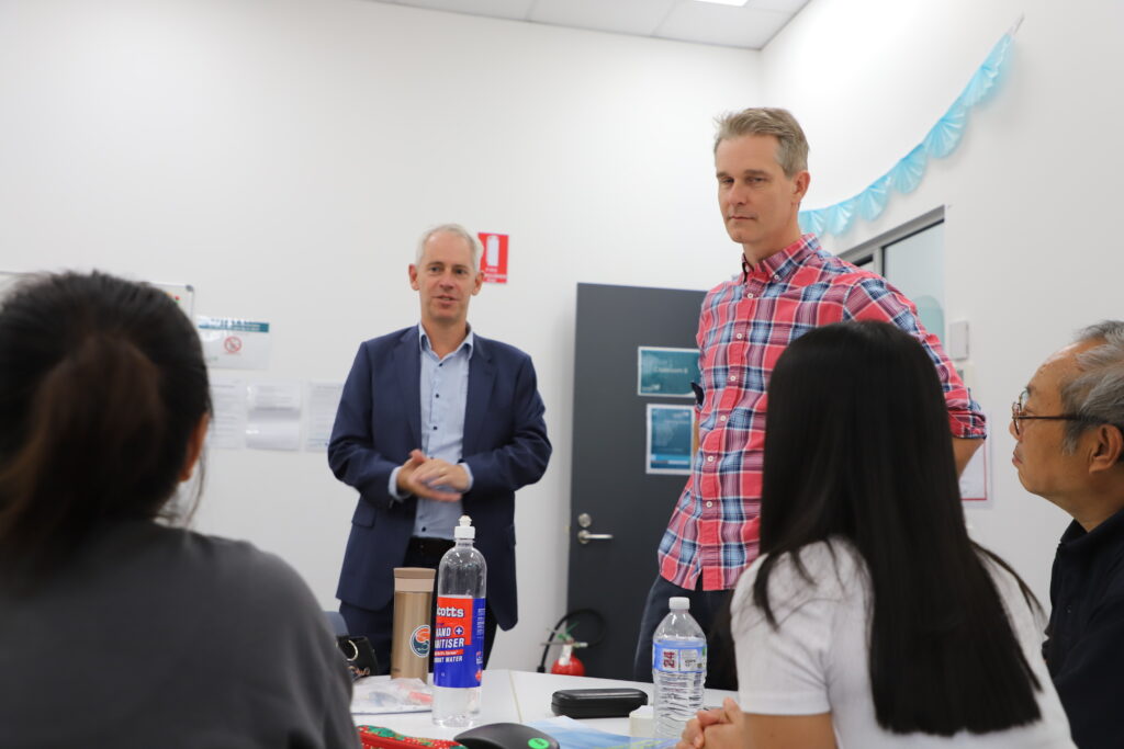
[[772,10],[682,2],[674,7],[653,36],[760,49],[785,27],[789,18],[788,13]]

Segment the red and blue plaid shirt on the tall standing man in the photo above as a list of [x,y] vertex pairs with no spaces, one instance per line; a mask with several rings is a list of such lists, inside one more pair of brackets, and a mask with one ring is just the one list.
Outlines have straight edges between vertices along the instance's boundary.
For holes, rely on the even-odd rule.
[[844,320],[891,322],[936,365],[954,437],[984,438],[984,412],[917,309],[886,278],[819,248],[815,235],[710,290],[699,317],[699,451],[660,541],[660,574],[694,590],[732,588],[758,556],[765,389],[777,358],[813,328]]

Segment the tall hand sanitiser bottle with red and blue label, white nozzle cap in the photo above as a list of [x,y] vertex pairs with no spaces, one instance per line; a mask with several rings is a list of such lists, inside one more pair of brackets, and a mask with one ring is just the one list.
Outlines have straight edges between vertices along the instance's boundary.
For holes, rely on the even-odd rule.
[[437,618],[433,638],[433,722],[469,725],[480,713],[484,664],[484,581],[488,566],[473,546],[468,515],[453,529],[456,546],[437,568]]

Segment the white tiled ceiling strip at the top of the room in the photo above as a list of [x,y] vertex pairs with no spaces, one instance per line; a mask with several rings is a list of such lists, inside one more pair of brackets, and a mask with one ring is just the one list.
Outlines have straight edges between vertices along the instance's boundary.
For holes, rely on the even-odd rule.
[[808,0],[749,0],[734,8],[698,0],[378,0],[469,16],[760,49]]

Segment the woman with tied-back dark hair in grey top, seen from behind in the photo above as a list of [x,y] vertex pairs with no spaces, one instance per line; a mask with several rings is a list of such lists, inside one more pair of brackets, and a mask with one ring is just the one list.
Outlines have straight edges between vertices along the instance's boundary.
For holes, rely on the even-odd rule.
[[156,522],[209,413],[162,291],[66,273],[0,307],[0,745],[359,746],[297,573]]

